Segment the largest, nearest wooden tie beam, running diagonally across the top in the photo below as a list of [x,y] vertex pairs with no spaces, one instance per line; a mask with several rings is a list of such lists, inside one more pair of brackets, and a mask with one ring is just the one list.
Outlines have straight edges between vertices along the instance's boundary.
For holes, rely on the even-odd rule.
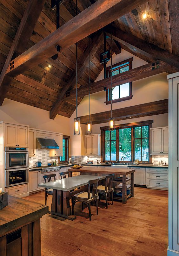
[[10,70],[9,66],[6,74],[11,77],[22,74],[56,54],[56,45],[62,49],[69,47],[145,2],[147,0],[98,0],[14,59],[14,68]]

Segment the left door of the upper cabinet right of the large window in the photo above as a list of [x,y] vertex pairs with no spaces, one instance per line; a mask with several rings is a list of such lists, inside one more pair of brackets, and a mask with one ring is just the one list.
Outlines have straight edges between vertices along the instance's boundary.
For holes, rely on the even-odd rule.
[[151,153],[161,154],[162,153],[162,129],[151,130]]

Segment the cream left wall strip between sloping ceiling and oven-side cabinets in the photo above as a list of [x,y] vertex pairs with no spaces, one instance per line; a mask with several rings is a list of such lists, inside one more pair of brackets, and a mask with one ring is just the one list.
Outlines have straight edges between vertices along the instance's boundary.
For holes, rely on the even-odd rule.
[[31,128],[62,132],[70,135],[70,119],[57,115],[49,118],[49,111],[6,99],[0,107],[0,121],[29,125]]

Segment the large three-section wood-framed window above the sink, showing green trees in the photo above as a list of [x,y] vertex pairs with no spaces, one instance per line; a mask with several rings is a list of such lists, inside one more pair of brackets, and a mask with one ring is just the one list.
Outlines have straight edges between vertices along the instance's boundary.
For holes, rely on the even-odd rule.
[[125,162],[134,162],[135,159],[149,162],[151,123],[146,124],[145,121],[143,125],[127,124],[127,127],[116,125],[114,131],[102,127],[103,161],[122,161],[123,157]]

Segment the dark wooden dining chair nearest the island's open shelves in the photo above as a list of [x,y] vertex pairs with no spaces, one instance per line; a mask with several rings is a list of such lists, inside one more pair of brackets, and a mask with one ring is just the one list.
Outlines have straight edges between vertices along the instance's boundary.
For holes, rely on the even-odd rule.
[[114,174],[107,175],[106,178],[105,178],[105,186],[99,185],[97,187],[97,191],[99,193],[99,196],[101,194],[101,195],[105,196],[105,198],[106,198],[106,208],[107,209],[108,209],[108,194],[109,193],[111,194],[111,201],[112,201],[112,204],[113,204],[113,191],[114,191],[114,188],[112,187],[113,178],[114,178]]

